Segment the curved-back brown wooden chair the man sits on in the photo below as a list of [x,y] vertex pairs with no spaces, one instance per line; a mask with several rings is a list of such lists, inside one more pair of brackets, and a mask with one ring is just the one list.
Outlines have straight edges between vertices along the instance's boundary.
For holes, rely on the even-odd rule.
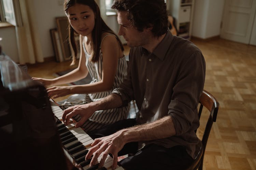
[[193,162],[193,164],[188,168],[188,169],[193,169],[193,170],[196,170],[196,169],[202,170],[202,168],[203,168],[204,151],[205,151],[207,140],[208,140],[211,128],[212,128],[212,124],[213,124],[213,122],[216,122],[218,108],[219,108],[218,101],[206,90],[203,90],[203,93],[200,97],[199,103],[200,103],[200,107],[199,107],[199,111],[198,111],[199,120],[200,120],[200,117],[202,114],[203,107],[208,109],[209,118],[208,118],[207,124],[204,128],[204,133],[203,133],[203,137],[201,140],[203,147],[200,149],[199,154],[198,154],[197,158],[195,159],[195,161]]

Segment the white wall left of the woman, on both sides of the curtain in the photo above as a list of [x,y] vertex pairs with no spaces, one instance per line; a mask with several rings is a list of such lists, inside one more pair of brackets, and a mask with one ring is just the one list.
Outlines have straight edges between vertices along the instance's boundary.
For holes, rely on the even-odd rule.
[[[32,14],[34,20],[32,24],[36,24],[39,33],[39,39],[43,56],[54,56],[54,50],[50,35],[50,29],[56,28],[55,17],[65,16],[63,11],[64,0],[28,0],[32,1]],[[15,28],[0,28],[0,41],[3,51],[9,55],[12,60],[18,62],[18,50],[16,43]],[[7,41],[8,40],[8,41]]]

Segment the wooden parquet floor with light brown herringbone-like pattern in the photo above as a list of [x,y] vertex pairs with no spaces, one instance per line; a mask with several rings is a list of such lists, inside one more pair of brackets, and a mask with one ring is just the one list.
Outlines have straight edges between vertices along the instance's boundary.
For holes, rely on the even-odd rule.
[[[206,62],[204,89],[219,102],[204,155],[204,170],[256,169],[256,47],[223,39],[192,39]],[[126,47],[126,55],[129,48]],[[70,63],[45,62],[28,66],[33,77],[53,78]],[[75,66],[73,66],[75,67]],[[207,121],[203,112],[200,127]],[[199,128],[201,137],[203,129]]]

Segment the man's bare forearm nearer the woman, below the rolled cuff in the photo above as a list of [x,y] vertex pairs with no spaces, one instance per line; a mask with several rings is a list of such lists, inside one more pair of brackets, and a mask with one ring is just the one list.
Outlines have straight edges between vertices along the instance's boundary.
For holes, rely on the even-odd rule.
[[99,101],[92,102],[91,104],[96,109],[96,111],[99,111],[120,107],[122,106],[123,102],[119,95],[112,93]]

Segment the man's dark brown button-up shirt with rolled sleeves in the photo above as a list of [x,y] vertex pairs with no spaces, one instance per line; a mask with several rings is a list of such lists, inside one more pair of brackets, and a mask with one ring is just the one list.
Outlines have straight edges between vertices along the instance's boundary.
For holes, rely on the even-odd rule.
[[182,145],[195,158],[201,147],[194,131],[199,126],[197,105],[204,79],[201,51],[190,41],[167,32],[152,53],[143,47],[131,48],[127,76],[113,93],[121,96],[124,105],[136,100],[138,124],[172,117],[176,135],[145,141],[146,145]]

